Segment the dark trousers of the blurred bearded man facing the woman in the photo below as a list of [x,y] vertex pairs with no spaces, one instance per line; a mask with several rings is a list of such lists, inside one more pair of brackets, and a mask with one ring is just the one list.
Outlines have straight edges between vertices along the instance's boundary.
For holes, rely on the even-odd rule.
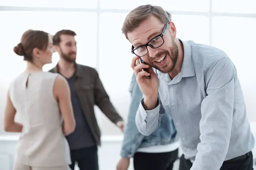
[[80,170],[99,170],[97,146],[71,150],[70,156],[72,161],[70,168],[72,170],[74,170],[76,162]]

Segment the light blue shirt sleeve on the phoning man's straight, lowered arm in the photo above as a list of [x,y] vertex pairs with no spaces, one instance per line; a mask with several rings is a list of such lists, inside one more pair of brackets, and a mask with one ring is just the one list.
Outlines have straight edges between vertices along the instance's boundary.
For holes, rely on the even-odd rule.
[[219,170],[230,144],[236,68],[220,59],[205,77],[207,97],[202,101],[198,153],[190,170]]

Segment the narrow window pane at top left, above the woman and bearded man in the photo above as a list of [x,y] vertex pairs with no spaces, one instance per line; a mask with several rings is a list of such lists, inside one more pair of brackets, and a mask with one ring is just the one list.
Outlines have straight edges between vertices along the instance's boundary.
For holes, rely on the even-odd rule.
[[1,0],[0,6],[96,8],[97,0]]

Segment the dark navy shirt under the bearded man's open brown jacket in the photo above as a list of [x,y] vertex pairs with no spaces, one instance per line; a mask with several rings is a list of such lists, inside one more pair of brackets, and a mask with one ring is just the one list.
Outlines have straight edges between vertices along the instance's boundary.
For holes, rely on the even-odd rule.
[[87,121],[79,103],[79,99],[76,94],[76,89],[74,85],[74,79],[75,74],[71,78],[67,79],[70,87],[71,101],[76,120],[76,129],[73,133],[66,136],[67,142],[70,146],[70,150],[77,150],[96,145],[95,139],[93,138],[90,128],[87,125]]

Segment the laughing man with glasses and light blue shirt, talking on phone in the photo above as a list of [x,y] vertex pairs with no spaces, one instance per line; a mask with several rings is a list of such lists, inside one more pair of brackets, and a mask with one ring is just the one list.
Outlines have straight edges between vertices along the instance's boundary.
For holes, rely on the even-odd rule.
[[159,6],[132,10],[122,32],[134,46],[131,68],[144,95],[135,118],[140,133],[152,133],[167,112],[181,139],[180,170],[253,170],[255,139],[227,54],[178,39]]

